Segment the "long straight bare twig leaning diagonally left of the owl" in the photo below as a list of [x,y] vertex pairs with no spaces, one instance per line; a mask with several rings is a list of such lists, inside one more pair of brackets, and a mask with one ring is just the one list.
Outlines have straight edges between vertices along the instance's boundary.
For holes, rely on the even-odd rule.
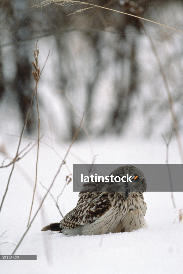
[[[84,117],[84,114],[83,114],[83,117]],[[71,142],[71,144],[70,144],[70,146],[69,146],[69,148],[68,148],[68,150],[67,150],[67,152],[66,152],[66,155],[65,155],[65,157],[64,157],[64,159],[63,159],[63,161],[62,161],[62,163],[60,164],[59,169],[58,169],[58,171],[57,171],[55,177],[53,178],[53,181],[52,181],[50,187],[48,188],[47,193],[46,193],[45,196],[43,197],[40,206],[38,207],[36,213],[34,214],[34,217],[32,218],[31,222],[29,223],[29,226],[27,227],[25,233],[23,234],[22,238],[20,239],[19,243],[17,244],[16,248],[14,249],[12,255],[16,252],[16,250],[17,250],[17,248],[20,246],[20,243],[22,242],[23,238],[25,237],[25,235],[26,235],[27,232],[29,231],[31,224],[34,222],[34,219],[36,218],[38,212],[40,211],[40,208],[41,208],[42,204],[44,203],[44,200],[45,200],[46,196],[48,195],[48,192],[49,192],[50,189],[52,188],[52,186],[53,186],[53,184],[54,184],[54,182],[55,182],[55,180],[56,180],[56,178],[57,178],[57,176],[58,176],[58,174],[59,174],[59,172],[60,172],[60,170],[61,170],[61,168],[62,168],[62,166],[63,166],[63,164],[64,164],[64,162],[65,162],[65,160],[66,160],[66,157],[67,157],[68,154],[69,154],[69,151],[70,151],[70,149],[71,149],[71,146],[73,145],[74,140],[76,139],[76,136],[77,136],[77,134],[78,134],[78,132],[79,132],[79,130],[80,130],[80,128],[81,128],[81,124],[82,124],[82,122],[83,122],[83,117],[82,117],[81,123],[80,123],[80,125],[79,125],[79,128],[77,129],[77,132],[75,133],[75,135],[74,135],[74,137],[73,137],[73,140],[72,140],[72,142]]]

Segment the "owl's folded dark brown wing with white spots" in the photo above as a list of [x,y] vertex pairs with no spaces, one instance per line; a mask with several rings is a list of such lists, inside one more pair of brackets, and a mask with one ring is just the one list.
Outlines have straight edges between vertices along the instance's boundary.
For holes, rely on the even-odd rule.
[[77,206],[60,222],[60,229],[73,229],[79,225],[95,222],[111,207],[106,192],[80,192]]

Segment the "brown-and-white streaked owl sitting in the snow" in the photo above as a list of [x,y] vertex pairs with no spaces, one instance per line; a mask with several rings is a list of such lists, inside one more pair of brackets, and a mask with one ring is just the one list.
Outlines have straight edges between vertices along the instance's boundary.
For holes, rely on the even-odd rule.
[[[41,231],[52,230],[68,236],[76,236],[131,232],[146,227],[144,216],[147,207],[143,197],[143,192],[146,191],[144,174],[130,165],[117,168],[111,174],[114,177],[123,177],[127,174],[132,177],[129,182],[124,180],[124,182],[122,180],[111,182],[111,180],[107,185],[101,184],[100,192],[99,189],[88,191],[88,183],[87,187],[84,184],[76,207],[59,223],[47,225]],[[92,183],[90,188],[95,189]]]

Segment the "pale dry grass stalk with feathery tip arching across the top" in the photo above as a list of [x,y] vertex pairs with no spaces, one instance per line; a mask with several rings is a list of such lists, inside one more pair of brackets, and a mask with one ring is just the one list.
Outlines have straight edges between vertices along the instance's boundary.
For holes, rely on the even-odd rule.
[[115,10],[115,9],[110,9],[110,8],[107,8],[107,7],[102,7],[102,6],[99,6],[99,5],[94,5],[94,4],[91,4],[91,3],[87,3],[87,2],[81,2],[81,1],[73,1],[73,0],[45,0],[43,2],[41,2],[40,4],[38,5],[34,5],[35,7],[44,7],[44,6],[47,6],[51,3],[55,3],[57,5],[60,5],[60,6],[71,6],[71,5],[90,5],[91,7],[89,8],[84,8],[84,9],[78,9],[77,11],[75,11],[74,13],[70,13],[68,15],[71,15],[71,14],[75,14],[77,12],[82,12],[86,9],[91,9],[91,8],[100,8],[100,9],[107,9],[107,10],[110,10],[110,11],[114,11],[114,12],[117,12],[117,13],[122,13],[122,14],[125,14],[125,15],[129,15],[129,16],[132,16],[132,17],[135,17],[135,18],[138,18],[138,19],[142,19],[142,20],[145,20],[145,21],[148,21],[150,23],[154,23],[154,24],[157,24],[157,25],[160,25],[162,27],[167,27],[171,30],[174,30],[174,31],[178,31],[178,32],[181,32],[183,33],[183,31],[179,31],[177,29],[174,29],[173,27],[169,27],[169,26],[166,26],[166,25],[163,25],[163,24],[160,24],[160,23],[157,23],[155,21],[152,21],[152,20],[148,20],[148,19],[145,19],[143,17],[140,17],[140,16],[137,16],[137,15],[134,15],[134,14],[130,14],[130,13],[124,13],[122,11],[119,11],[119,10]]

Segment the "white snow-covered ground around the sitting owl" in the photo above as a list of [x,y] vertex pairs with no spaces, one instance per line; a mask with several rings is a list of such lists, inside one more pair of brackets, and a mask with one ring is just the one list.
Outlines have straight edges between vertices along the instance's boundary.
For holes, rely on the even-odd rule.
[[[45,142],[51,145],[50,140]],[[26,146],[28,141],[23,141]],[[61,157],[66,153],[65,147],[54,143],[54,148]],[[96,164],[164,164],[166,149],[163,141],[140,141],[108,138],[92,142]],[[8,145],[10,154],[14,155],[16,144],[12,140]],[[66,164],[72,172],[73,164],[81,161],[91,163],[87,142],[77,142],[71,149]],[[74,156],[75,155],[75,156]],[[0,155],[0,162],[4,159]],[[2,212],[0,213],[1,254],[11,254],[15,245],[27,228],[28,215],[32,199],[32,187],[35,177],[36,148],[31,150],[13,172]],[[175,140],[170,143],[170,164],[180,164]],[[38,187],[40,196],[46,190],[39,184],[49,187],[61,160],[56,153],[44,143],[40,146],[38,164]],[[24,177],[23,175],[24,170]],[[0,200],[5,191],[10,168],[0,170]],[[31,178],[25,178],[25,172]],[[51,193],[56,198],[69,175],[63,166]],[[33,182],[32,182],[33,181]],[[38,194],[37,194],[38,196]],[[72,183],[66,186],[59,198],[59,207],[63,215],[77,203],[78,193],[72,191]],[[177,209],[183,208],[183,193],[175,192]],[[37,254],[37,261],[0,261],[0,273],[3,274],[47,274],[47,273],[182,273],[183,272],[183,222],[174,223],[178,212],[174,213],[169,192],[147,192],[144,194],[147,203],[147,228],[130,233],[116,233],[95,236],[67,237],[60,233],[42,233],[40,230],[50,222],[61,220],[51,196],[47,196],[43,211],[34,220],[29,232],[23,239],[16,254]],[[39,200],[35,199],[33,214],[38,208]],[[32,214],[32,216],[33,216]],[[14,243],[15,245],[13,245]]]

